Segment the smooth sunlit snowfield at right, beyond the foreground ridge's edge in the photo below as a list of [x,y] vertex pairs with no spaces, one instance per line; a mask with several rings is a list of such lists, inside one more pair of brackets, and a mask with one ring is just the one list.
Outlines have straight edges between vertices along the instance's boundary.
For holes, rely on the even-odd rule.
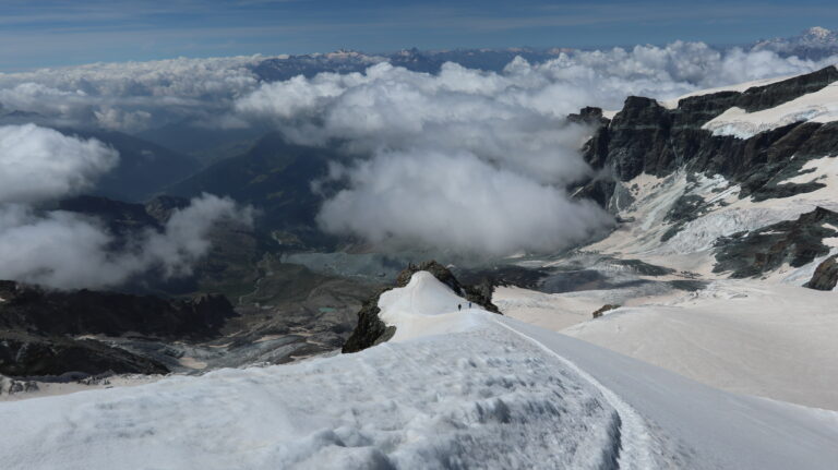
[[604,298],[596,306],[572,310],[580,296],[603,293],[501,290],[498,304],[511,317],[703,384],[838,410],[838,310],[833,292],[731,279],[697,292],[619,302],[622,308],[598,320],[591,320],[591,312],[607,302]]

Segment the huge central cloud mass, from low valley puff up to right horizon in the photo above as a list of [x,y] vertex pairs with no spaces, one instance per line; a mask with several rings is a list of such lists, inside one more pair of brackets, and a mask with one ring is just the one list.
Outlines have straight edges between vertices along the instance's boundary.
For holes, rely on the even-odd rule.
[[577,152],[589,130],[567,123],[570,112],[818,67],[686,43],[516,59],[502,73],[447,63],[432,75],[381,63],[264,84],[237,110],[273,119],[298,143],[342,142],[364,157],[334,171],[349,189],[324,204],[326,231],[503,255],[561,249],[608,226],[599,208],[565,193],[590,171]]

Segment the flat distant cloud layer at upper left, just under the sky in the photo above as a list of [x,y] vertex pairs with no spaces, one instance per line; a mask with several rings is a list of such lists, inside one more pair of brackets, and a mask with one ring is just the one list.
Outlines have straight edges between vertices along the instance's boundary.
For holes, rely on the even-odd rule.
[[249,69],[264,58],[94,63],[0,73],[0,115],[17,111],[50,125],[137,132],[183,119],[217,120],[258,86]]

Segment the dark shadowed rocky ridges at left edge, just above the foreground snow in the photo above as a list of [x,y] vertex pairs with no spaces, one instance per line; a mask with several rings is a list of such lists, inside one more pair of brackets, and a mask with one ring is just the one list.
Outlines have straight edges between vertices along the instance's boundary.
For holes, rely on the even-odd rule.
[[154,359],[87,336],[197,340],[218,335],[236,315],[222,296],[172,301],[0,281],[0,374],[166,373]]

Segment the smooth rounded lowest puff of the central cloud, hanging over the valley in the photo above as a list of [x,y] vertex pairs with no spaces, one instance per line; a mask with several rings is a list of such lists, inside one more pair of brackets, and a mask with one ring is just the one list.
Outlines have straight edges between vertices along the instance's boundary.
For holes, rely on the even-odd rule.
[[344,170],[350,188],[326,201],[324,229],[392,249],[465,254],[565,248],[610,226],[592,203],[469,153],[383,153]]

